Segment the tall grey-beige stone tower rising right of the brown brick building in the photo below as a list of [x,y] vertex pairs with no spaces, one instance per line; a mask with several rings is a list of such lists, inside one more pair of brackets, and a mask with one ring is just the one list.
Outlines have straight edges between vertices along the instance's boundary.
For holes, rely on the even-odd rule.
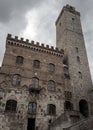
[[64,64],[69,66],[74,110],[84,116],[91,113],[89,94],[92,82],[87,60],[80,13],[66,5],[56,21],[56,44],[66,52]]

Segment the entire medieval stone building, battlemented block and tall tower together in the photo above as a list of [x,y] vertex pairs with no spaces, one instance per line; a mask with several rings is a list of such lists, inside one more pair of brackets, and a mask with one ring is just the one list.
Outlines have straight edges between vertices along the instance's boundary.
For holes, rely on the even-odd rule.
[[58,16],[56,48],[7,35],[0,130],[92,130],[92,114],[92,82],[74,7],[66,5]]

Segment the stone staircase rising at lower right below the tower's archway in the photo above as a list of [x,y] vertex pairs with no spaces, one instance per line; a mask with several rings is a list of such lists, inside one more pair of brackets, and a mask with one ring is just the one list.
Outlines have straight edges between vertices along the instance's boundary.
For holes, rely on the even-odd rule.
[[93,130],[93,116],[83,117],[78,111],[61,114],[48,130]]

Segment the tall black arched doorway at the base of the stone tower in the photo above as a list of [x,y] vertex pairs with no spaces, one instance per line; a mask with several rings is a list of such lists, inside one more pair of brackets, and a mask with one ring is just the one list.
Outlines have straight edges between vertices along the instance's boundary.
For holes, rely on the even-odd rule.
[[88,103],[86,100],[82,99],[79,102],[79,110],[80,113],[85,116],[88,117],[89,116],[89,110],[88,110]]

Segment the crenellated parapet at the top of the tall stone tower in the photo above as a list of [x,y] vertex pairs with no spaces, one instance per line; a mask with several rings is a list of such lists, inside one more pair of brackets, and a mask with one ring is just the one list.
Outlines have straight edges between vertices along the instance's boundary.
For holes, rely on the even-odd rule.
[[60,17],[62,16],[62,14],[63,14],[64,11],[68,11],[68,12],[71,12],[71,13],[73,13],[73,14],[76,14],[76,15],[79,15],[79,16],[80,16],[80,13],[75,10],[75,7],[70,6],[70,5],[67,4],[67,5],[64,6],[63,9],[61,10],[61,12],[60,12],[60,14],[59,14],[59,16],[58,16],[58,18],[57,18],[57,20],[56,20],[56,25],[57,25],[57,23],[58,23],[58,21],[59,21],[59,19],[60,19]]

